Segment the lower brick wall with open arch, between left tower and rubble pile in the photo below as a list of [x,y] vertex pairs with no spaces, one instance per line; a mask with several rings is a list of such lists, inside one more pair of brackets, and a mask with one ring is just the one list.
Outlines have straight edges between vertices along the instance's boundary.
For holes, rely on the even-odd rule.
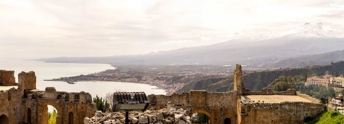
[[[57,109],[57,124],[68,124],[71,119],[70,113],[73,115],[73,124],[83,124],[84,118],[92,117],[96,110],[90,94],[85,92],[58,92],[54,87],[47,87],[45,91],[32,90],[25,100],[29,101],[29,104],[25,104],[26,108],[31,110],[35,108],[36,111],[32,114],[38,116],[31,120],[37,120],[37,123],[47,121],[47,105],[52,105]],[[31,123],[34,124],[35,122]]]

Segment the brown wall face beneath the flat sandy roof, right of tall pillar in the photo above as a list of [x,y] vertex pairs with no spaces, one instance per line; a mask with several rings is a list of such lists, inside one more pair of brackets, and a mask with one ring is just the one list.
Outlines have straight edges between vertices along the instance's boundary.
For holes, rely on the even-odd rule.
[[326,108],[310,102],[242,103],[240,124],[304,124],[308,116],[315,116]]

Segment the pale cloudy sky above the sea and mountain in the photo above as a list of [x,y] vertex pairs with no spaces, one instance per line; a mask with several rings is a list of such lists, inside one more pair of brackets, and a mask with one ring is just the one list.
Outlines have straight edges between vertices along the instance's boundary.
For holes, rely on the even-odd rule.
[[305,23],[342,33],[343,22],[344,0],[0,0],[0,59],[146,54]]

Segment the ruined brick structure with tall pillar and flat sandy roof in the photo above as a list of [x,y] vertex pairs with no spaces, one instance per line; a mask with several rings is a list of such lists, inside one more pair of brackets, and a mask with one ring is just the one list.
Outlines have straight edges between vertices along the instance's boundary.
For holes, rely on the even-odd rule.
[[295,89],[274,92],[271,89],[250,91],[242,83],[241,65],[234,71],[234,90],[214,93],[191,90],[187,93],[149,95],[151,109],[165,108],[168,102],[184,110],[204,113],[211,124],[304,124],[308,116],[326,109],[318,99],[300,94]]

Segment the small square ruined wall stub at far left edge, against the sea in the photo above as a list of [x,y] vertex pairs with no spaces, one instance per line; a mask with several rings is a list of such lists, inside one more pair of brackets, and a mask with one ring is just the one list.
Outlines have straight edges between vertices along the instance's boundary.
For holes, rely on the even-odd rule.
[[16,85],[14,71],[0,70],[0,85]]

